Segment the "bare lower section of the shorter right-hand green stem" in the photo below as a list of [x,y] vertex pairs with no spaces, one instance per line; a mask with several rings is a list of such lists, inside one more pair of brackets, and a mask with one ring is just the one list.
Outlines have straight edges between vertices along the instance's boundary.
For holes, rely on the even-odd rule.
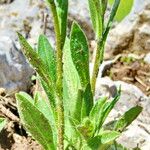
[[104,46],[103,46],[103,40],[97,41],[97,48],[96,48],[96,55],[94,59],[94,66],[93,66],[93,72],[92,72],[92,78],[91,78],[91,87],[92,87],[92,93],[95,95],[95,86],[96,86],[96,79],[99,72],[99,67],[103,62],[103,53],[104,53]]

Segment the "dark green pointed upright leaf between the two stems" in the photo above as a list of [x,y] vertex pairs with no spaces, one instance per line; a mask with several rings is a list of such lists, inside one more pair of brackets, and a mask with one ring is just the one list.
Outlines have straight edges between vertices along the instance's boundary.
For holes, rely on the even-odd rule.
[[83,88],[89,83],[89,51],[87,39],[77,23],[73,23],[70,36],[70,50]]

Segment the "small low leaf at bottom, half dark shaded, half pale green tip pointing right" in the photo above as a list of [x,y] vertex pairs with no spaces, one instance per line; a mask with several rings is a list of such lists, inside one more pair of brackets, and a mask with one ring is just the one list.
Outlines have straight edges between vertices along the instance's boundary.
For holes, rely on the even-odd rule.
[[119,132],[116,131],[105,131],[103,133],[101,133],[100,135],[91,138],[88,141],[88,145],[92,148],[92,149],[105,149],[104,147],[108,144],[110,144],[111,142],[113,142],[116,138],[118,138],[120,136]]

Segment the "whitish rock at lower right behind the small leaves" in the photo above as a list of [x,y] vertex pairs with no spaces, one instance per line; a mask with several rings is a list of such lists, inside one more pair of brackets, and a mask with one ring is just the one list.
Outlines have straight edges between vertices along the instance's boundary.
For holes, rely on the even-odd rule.
[[109,114],[105,123],[118,119],[130,108],[140,105],[143,107],[142,113],[117,139],[118,143],[127,148],[139,146],[141,150],[149,149],[150,140],[150,98],[148,98],[139,88],[122,81],[112,81],[109,77],[98,78],[96,86],[96,99],[101,96],[114,97],[117,89],[121,86],[121,97]]

